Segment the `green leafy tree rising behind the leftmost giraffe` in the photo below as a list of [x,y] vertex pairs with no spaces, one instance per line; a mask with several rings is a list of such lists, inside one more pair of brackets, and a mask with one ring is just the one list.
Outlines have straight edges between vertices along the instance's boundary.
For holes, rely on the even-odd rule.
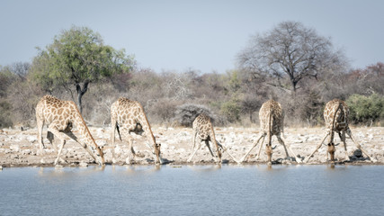
[[73,26],[55,36],[46,49],[40,49],[31,70],[49,93],[60,85],[72,94],[71,86],[75,85],[82,112],[82,97],[90,83],[114,74],[129,73],[133,65],[133,58],[127,56],[124,49],[115,50],[104,45],[100,34],[89,28]]

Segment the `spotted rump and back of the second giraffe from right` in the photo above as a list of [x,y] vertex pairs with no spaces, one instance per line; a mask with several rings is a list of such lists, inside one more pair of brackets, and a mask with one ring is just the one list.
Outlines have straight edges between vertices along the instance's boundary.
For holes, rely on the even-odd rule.
[[[271,119],[270,119],[271,116]],[[283,132],[284,112],[281,104],[273,100],[263,103],[259,111],[260,128],[264,133],[270,130],[271,135],[278,135]],[[272,125],[270,125],[270,122]]]

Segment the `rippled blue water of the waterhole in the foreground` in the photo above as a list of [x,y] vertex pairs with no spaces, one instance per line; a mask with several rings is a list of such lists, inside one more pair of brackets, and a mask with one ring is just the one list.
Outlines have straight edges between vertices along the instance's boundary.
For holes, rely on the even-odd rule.
[[0,171],[0,215],[383,215],[384,166]]

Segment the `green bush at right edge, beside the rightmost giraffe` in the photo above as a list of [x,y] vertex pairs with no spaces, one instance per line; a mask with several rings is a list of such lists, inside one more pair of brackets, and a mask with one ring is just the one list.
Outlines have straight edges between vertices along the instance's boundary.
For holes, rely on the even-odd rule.
[[365,96],[353,94],[346,101],[354,123],[368,123],[384,119],[384,97],[380,94]]

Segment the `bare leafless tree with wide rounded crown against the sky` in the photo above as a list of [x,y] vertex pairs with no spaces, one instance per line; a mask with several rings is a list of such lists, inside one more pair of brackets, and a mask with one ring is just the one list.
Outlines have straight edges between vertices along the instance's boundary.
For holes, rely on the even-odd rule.
[[279,23],[272,31],[251,38],[237,56],[239,66],[257,76],[288,76],[296,93],[306,77],[317,78],[322,72],[344,64],[343,54],[334,51],[329,39],[297,22]]

